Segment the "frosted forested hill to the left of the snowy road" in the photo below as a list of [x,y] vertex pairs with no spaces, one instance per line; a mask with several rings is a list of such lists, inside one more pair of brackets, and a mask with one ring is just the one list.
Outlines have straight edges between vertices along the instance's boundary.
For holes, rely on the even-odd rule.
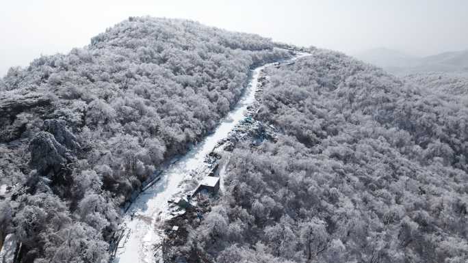
[[0,240],[18,262],[105,262],[119,206],[216,126],[272,41],[187,20],[129,18],[0,80]]

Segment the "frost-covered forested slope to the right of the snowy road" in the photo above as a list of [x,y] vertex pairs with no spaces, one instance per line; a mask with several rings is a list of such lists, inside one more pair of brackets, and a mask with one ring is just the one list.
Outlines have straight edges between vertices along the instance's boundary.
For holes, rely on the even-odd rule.
[[468,260],[468,108],[346,55],[314,50],[265,72],[225,191],[179,256],[200,262]]

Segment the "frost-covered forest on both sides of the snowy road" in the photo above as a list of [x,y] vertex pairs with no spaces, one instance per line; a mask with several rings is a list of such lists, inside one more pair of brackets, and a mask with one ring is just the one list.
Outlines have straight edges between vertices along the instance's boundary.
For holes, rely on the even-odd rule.
[[[0,244],[18,262],[107,262],[120,209],[216,127],[289,46],[138,18],[0,79]],[[341,53],[270,66],[224,152],[222,194],[171,253],[198,262],[468,260],[467,81],[397,78]],[[8,194],[5,194],[8,192]],[[198,215],[197,215],[198,217]]]

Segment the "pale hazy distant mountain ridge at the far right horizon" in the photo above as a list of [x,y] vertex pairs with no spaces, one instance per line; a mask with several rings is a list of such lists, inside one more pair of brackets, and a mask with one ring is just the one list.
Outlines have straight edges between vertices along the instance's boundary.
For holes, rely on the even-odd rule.
[[356,53],[354,57],[393,74],[418,72],[467,72],[468,74],[468,49],[414,57],[393,49],[379,48]]

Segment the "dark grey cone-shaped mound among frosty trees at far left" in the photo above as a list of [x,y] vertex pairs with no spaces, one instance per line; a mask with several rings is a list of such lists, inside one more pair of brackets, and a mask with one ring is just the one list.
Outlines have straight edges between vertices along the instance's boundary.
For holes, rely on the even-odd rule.
[[67,163],[73,161],[68,150],[58,143],[51,133],[41,131],[34,135],[29,143],[31,151],[30,165],[38,174],[47,176],[50,172],[57,174]]

